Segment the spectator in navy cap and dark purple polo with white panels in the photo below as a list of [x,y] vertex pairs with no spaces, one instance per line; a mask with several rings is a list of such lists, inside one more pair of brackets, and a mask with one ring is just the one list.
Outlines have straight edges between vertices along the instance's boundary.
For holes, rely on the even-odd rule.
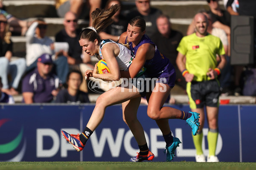
[[59,79],[52,73],[52,67],[52,56],[42,54],[37,59],[37,68],[23,78],[22,95],[26,104],[53,102],[58,94]]

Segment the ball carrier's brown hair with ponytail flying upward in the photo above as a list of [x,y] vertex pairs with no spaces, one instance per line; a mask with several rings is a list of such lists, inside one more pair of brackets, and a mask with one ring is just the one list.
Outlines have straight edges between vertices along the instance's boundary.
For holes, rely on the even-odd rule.
[[87,39],[91,42],[94,40],[98,40],[100,42],[99,32],[103,31],[107,26],[109,26],[113,20],[113,15],[119,10],[120,5],[116,4],[105,9],[96,8],[95,11],[92,12],[91,16],[93,19],[93,28],[85,28],[83,31],[79,34],[79,40],[81,39]]

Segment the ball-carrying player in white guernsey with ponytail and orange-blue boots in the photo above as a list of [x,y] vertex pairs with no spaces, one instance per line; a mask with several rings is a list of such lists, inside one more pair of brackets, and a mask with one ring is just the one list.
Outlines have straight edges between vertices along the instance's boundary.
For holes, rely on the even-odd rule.
[[[118,5],[111,6],[108,10],[100,10],[97,8],[92,13],[93,27],[91,29],[85,28],[79,34],[79,43],[83,51],[90,56],[96,55],[98,59],[105,59],[110,70],[110,73],[97,74],[95,65],[94,70],[87,70],[85,72],[85,76],[87,77],[100,78],[108,81],[112,81],[113,79],[119,80],[121,78],[120,70],[128,71],[128,67],[134,60],[131,51],[124,45],[112,40],[101,41],[98,34],[112,22],[111,17],[118,10]],[[143,73],[143,70],[138,71],[136,77],[146,78],[145,72]],[[134,85],[125,84],[127,83],[122,82],[121,85],[110,89],[98,97],[89,122],[81,134],[73,135],[62,131],[64,138],[70,142],[77,151],[83,150],[87,139],[89,139],[96,127],[102,122],[105,109],[110,105],[122,103],[123,119],[133,133],[140,148],[140,153],[131,158],[130,161],[144,161],[154,158],[154,154],[148,149],[143,127],[137,119],[137,109],[140,105],[140,99],[145,93],[144,91],[140,93],[140,91],[137,90],[138,86],[135,87]],[[127,102],[128,100],[129,102]]]

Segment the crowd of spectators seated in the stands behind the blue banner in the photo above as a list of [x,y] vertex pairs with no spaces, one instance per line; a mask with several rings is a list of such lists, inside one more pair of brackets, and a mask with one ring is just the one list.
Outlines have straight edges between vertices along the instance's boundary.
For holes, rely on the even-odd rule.
[[[224,7],[220,0],[206,0],[209,8],[201,9],[207,16],[209,26],[207,32],[221,39],[225,49],[226,65],[218,78],[221,95],[244,95],[241,78],[244,68],[248,65],[230,64],[232,15],[247,15],[256,18],[255,0],[224,0]],[[136,7],[129,11],[122,8],[113,16],[113,23],[99,33],[101,39],[111,39],[118,42],[119,36],[126,31],[128,22],[136,16],[141,16],[146,22],[146,34],[157,45],[176,70],[176,85],[186,94],[186,80],[176,64],[177,47],[181,39],[186,36],[179,30],[172,28],[170,18],[160,9],[153,8],[151,0],[135,0]],[[96,8],[108,9],[114,4],[122,7],[121,0],[56,0],[55,8],[58,17],[64,19],[63,26],[54,40],[46,36],[47,22],[43,18],[35,20],[21,20],[6,11],[0,1],[0,102],[14,103],[11,96],[22,94],[23,102],[61,102],[84,103],[88,98],[87,81],[83,78],[87,69],[93,69],[90,55],[82,51],[78,36],[81,32],[79,19],[89,20],[92,26],[91,12]],[[89,17],[87,16],[89,14]],[[187,28],[187,35],[195,32],[195,21]],[[12,34],[19,34],[26,38],[26,56],[12,57]],[[60,45],[61,48],[57,51]],[[220,57],[217,57],[220,61]],[[183,61],[186,62],[186,58]],[[250,65],[255,69],[255,65]],[[256,80],[255,80],[256,83]],[[104,91],[106,91],[104,89]],[[250,95],[250,94],[249,94]],[[256,96],[252,93],[251,96]],[[144,101],[145,102],[145,101]],[[167,102],[174,104],[170,97]]]

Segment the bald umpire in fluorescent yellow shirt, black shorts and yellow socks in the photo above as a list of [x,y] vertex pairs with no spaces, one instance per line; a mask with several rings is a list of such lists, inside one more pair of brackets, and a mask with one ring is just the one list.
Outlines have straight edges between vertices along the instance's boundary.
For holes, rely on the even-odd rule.
[[[186,79],[186,91],[189,96],[189,106],[192,112],[200,113],[200,127],[198,134],[193,136],[196,149],[195,159],[205,162],[202,150],[204,106],[206,106],[209,131],[207,141],[209,155],[207,162],[218,162],[215,150],[218,139],[218,106],[220,85],[217,77],[224,68],[226,59],[225,51],[218,37],[207,33],[207,17],[198,13],[194,17],[195,33],[183,37],[177,51],[179,51],[176,62],[183,77]],[[218,56],[218,57],[217,57]],[[186,63],[185,61],[186,57]]]

